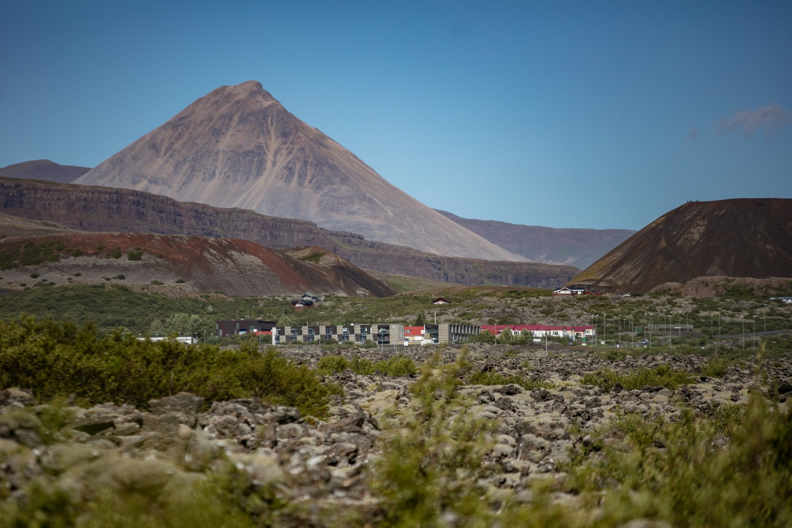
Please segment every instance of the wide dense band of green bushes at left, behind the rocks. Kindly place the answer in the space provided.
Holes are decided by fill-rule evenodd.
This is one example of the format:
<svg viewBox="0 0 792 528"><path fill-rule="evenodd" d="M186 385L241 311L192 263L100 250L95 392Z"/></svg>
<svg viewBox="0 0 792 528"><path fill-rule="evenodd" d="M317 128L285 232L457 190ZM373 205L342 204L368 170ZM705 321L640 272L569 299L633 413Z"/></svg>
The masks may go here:
<svg viewBox="0 0 792 528"><path fill-rule="evenodd" d="M247 342L239 350L175 341L137 340L131 333L100 336L93 325L38 321L0 322L0 386L31 389L40 400L74 394L89 404L105 401L145 407L181 390L207 401L261 397L322 416L327 398L340 393L305 365L275 348L263 353Z"/></svg>

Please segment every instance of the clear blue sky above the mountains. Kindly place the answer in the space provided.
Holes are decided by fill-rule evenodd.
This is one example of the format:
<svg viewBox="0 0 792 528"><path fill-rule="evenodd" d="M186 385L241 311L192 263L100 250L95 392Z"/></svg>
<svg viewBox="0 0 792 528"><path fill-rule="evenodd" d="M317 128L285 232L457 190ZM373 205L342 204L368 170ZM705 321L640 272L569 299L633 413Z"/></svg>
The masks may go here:
<svg viewBox="0 0 792 528"><path fill-rule="evenodd" d="M792 198L792 2L0 0L0 166L97 165L261 81L466 218L640 229Z"/></svg>

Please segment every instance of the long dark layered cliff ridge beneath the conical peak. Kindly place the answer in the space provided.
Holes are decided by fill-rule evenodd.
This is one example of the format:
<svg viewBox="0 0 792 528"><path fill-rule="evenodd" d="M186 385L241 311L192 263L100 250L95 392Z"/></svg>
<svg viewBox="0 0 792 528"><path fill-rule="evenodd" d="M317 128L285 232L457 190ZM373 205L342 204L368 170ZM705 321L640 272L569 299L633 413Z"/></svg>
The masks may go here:
<svg viewBox="0 0 792 528"><path fill-rule="evenodd" d="M0 207L9 215L74 230L234 237L271 248L318 245L360 268L443 282L560 287L580 273L569 266L437 256L324 230L306 220L177 202L129 189L0 178Z"/></svg>

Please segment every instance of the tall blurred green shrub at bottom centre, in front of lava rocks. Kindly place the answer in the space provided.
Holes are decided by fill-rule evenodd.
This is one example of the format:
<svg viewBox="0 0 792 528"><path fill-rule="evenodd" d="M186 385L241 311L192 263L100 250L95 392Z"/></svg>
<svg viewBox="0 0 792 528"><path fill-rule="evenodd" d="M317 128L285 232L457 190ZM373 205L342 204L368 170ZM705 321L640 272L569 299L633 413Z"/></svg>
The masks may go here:
<svg viewBox="0 0 792 528"><path fill-rule="evenodd" d="M413 383L413 407L387 427L371 482L380 526L447 526L444 515L455 526L493 526L478 482L496 423L477 418L458 387L458 365L436 355Z"/></svg>

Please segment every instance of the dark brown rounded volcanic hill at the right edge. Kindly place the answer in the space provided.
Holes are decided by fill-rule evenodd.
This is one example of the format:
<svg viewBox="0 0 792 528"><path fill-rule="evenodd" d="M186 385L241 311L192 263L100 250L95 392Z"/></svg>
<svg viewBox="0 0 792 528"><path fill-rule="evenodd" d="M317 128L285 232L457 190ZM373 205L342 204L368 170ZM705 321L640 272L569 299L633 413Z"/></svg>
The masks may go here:
<svg viewBox="0 0 792 528"><path fill-rule="evenodd" d="M792 277L792 199L685 203L597 260L569 286L642 292L710 275Z"/></svg>

